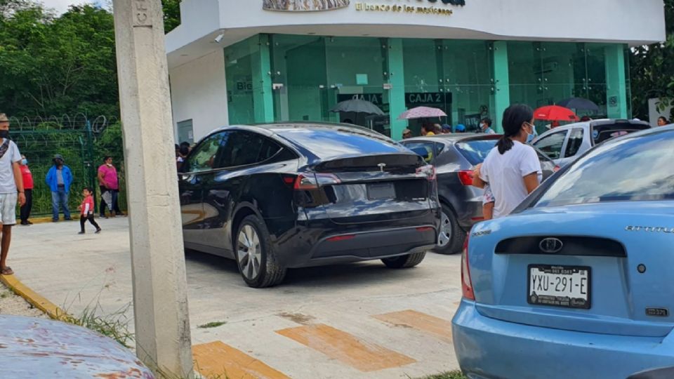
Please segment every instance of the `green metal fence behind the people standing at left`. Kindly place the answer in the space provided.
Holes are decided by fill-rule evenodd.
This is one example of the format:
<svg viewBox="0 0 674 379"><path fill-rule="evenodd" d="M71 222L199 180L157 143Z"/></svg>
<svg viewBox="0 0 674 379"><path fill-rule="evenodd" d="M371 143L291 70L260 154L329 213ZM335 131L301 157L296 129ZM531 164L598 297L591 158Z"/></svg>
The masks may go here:
<svg viewBox="0 0 674 379"><path fill-rule="evenodd" d="M84 114L62 117L10 118L10 138L28 160L33 175L33 215L51 215L51 191L46 185L47 171L55 154L61 154L73 174L70 210L81 202L81 189L98 189L98 166L103 157L113 158L120 179L119 206L126 208L124 149L117 119L104 116L89 119ZM95 198L100 199L96 190ZM97 201L98 211L98 201ZM74 212L74 214L77 214Z"/></svg>

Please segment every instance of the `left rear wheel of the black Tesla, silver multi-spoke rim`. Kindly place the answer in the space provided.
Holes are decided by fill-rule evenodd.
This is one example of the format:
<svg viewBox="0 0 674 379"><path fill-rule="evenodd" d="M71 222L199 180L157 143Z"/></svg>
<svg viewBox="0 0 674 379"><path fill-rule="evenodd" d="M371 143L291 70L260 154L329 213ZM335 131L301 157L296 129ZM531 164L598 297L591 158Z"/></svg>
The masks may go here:
<svg viewBox="0 0 674 379"><path fill-rule="evenodd" d="M234 251L242 278L253 288L275 286L286 276L285 267L276 260L267 227L255 215L239 224Z"/></svg>

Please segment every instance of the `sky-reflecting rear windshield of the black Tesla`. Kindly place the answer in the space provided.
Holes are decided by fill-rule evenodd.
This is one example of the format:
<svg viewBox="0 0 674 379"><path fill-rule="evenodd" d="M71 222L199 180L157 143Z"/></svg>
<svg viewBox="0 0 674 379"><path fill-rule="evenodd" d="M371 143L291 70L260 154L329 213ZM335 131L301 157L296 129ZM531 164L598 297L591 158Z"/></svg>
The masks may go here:
<svg viewBox="0 0 674 379"><path fill-rule="evenodd" d="M288 128L275 133L322 160L362 154L409 154L383 135L348 128Z"/></svg>

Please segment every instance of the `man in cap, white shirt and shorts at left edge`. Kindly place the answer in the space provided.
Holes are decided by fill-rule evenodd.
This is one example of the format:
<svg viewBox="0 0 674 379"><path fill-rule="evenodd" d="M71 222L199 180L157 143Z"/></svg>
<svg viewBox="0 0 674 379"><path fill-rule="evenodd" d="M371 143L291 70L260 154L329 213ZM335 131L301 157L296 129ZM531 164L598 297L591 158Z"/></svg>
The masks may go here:
<svg viewBox="0 0 674 379"><path fill-rule="evenodd" d="M9 140L9 119L0 113L0 221L2 237L0 241L0 274L14 274L7 265L9 245L12 240L12 227L16 225L16 203L26 203L23 178L19 162L21 154L16 144Z"/></svg>

